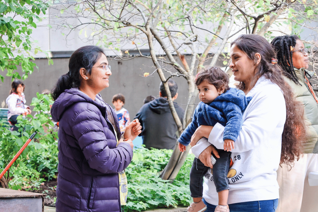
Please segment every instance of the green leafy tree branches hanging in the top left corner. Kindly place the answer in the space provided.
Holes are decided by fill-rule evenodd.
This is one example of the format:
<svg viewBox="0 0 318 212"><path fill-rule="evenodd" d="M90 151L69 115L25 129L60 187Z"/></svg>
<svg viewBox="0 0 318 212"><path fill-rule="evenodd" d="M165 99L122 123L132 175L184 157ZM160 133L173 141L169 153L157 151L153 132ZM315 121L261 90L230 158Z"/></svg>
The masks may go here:
<svg viewBox="0 0 318 212"><path fill-rule="evenodd" d="M1 0L0 2L0 68L7 70L6 76L21 79L17 66L21 65L22 79L33 72L36 64L32 62L32 28L36 28L35 20L41 20L40 13L45 14L47 4L42 0ZM41 51L34 49L36 54ZM50 64L50 62L49 62ZM0 79L4 77L0 74Z"/></svg>

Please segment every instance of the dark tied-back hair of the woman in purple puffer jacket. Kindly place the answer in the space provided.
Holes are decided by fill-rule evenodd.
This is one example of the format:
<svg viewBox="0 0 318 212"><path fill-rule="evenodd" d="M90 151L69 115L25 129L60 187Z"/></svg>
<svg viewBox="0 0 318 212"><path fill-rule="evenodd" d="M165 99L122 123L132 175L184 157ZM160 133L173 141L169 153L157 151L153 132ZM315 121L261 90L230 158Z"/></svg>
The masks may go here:
<svg viewBox="0 0 318 212"><path fill-rule="evenodd" d="M79 70L85 68L87 74L91 74L93 65L105 54L98 46L83 46L73 52L68 63L69 72L59 77L51 96L55 101L66 89L80 86L81 76Z"/></svg>

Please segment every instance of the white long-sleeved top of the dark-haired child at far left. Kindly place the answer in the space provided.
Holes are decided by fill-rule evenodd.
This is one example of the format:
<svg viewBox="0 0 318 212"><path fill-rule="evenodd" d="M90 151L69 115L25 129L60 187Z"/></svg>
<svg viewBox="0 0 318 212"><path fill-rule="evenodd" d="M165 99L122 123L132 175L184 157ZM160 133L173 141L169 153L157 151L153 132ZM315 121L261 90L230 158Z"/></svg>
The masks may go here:
<svg viewBox="0 0 318 212"><path fill-rule="evenodd" d="M27 108L30 109L29 106L24 105L26 103L24 93L21 93L21 96L19 96L16 93L11 93L8 96L8 98L5 100L5 102L9 108L8 120L10 119L11 116L27 113L28 112Z"/></svg>

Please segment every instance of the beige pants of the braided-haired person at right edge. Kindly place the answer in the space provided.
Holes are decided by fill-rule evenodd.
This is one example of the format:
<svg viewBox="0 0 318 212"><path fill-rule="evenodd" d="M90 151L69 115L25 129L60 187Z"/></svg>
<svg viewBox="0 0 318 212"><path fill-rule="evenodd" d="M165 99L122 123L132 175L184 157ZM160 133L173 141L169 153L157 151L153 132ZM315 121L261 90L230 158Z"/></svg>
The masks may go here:
<svg viewBox="0 0 318 212"><path fill-rule="evenodd" d="M318 172L318 154L304 154L294 167L277 170L279 201L276 212L318 212L318 186L309 186L308 173Z"/></svg>

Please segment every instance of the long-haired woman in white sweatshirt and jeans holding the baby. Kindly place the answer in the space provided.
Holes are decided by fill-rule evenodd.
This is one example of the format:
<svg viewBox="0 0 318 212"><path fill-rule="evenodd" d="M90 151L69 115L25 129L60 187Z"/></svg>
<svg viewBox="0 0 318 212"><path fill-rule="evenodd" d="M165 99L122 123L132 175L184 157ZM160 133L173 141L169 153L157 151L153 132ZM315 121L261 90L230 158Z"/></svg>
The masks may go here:
<svg viewBox="0 0 318 212"><path fill-rule="evenodd" d="M227 175L229 209L275 211L279 198L276 170L301 155L305 137L303 107L285 84L275 52L265 38L239 36L231 44L231 58L234 79L240 82L238 88L252 100L243 114L243 126L231 154L232 166ZM214 147L224 148L223 132L221 124L200 126L192 136L192 144L199 140L192 152L205 166L213 167L211 152L218 157ZM203 197L207 211L214 211L218 194L211 169L205 175Z"/></svg>

